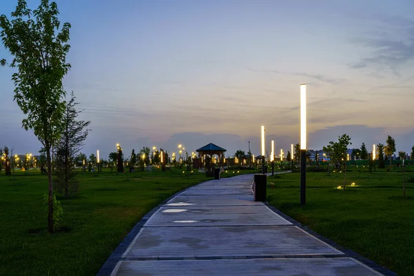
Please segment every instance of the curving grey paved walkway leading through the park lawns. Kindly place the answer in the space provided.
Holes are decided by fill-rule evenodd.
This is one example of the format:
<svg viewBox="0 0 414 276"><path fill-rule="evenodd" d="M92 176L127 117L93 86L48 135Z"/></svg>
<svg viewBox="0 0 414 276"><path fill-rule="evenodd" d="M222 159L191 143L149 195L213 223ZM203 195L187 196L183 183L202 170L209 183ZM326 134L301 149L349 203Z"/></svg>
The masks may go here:
<svg viewBox="0 0 414 276"><path fill-rule="evenodd" d="M382 275L253 201L252 181L206 181L172 198L111 275Z"/></svg>

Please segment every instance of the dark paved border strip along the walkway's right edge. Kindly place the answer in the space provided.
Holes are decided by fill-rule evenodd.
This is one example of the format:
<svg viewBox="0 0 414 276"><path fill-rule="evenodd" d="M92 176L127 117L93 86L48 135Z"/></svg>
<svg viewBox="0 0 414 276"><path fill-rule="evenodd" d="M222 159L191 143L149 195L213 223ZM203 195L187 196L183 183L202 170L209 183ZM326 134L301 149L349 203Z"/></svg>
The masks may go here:
<svg viewBox="0 0 414 276"><path fill-rule="evenodd" d="M322 242L325 242L326 244L332 246L333 248L335 248L339 251L342 251L346 256L351 257L353 259L356 259L359 262L362 262L362 264L365 264L366 266L372 268L373 270L375 270L379 273L382 273L384 276L397 276L397 273L394 273L393 271L389 270L388 268L384 268L383 266L380 266L379 264L371 261L371 259L367 259L366 257L362 257L358 253L355 253L353 250L345 248L344 246L340 246L339 244L333 242L331 239L328 239L328 238L326 238L322 235L319 235L318 233L313 231L308 226L304 226L299 221L297 221L297 220L289 217L288 215L282 213L279 209L277 209L275 206L270 204L268 201L264 202L264 204L266 206L268 206L268 208L270 208L270 210L272 210L274 213L276 213L277 215L283 217L284 219L286 219L287 221L292 223L294 226L297 226L297 227L301 228L306 233L309 233L309 234L313 235L317 239L320 239Z"/></svg>

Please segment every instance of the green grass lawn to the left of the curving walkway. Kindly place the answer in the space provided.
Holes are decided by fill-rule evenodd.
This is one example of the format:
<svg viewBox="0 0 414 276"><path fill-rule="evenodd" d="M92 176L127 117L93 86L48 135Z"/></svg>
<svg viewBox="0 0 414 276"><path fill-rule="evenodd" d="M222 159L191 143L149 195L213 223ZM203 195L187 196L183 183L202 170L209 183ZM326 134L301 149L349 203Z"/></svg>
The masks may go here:
<svg viewBox="0 0 414 276"><path fill-rule="evenodd" d="M230 177L253 171L222 173ZM95 275L135 224L161 201L208 179L199 172L80 172L77 197L57 197L64 232L47 233L46 175L0 175L0 275Z"/></svg>

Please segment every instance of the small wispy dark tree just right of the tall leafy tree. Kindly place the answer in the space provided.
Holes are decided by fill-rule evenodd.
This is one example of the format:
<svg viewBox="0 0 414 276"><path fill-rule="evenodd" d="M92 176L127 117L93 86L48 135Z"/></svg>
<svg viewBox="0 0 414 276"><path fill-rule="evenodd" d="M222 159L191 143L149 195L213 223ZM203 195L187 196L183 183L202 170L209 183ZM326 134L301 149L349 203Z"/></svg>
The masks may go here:
<svg viewBox="0 0 414 276"><path fill-rule="evenodd" d="M75 172L75 159L78 152L83 148L85 139L88 137L88 126L90 121L77 121L79 113L73 92L70 94L70 101L66 103L63 115L63 132L57 144L55 159L55 182L54 187L58 193L65 197L77 193L79 190L79 179ZM83 162L83 160L82 160ZM82 163L83 164L83 163Z"/></svg>

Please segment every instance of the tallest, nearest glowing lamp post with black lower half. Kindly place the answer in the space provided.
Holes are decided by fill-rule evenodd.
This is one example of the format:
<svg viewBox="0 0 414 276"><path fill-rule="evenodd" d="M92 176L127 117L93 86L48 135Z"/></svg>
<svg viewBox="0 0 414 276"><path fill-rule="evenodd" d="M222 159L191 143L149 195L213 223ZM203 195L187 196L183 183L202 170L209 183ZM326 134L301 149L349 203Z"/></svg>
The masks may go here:
<svg viewBox="0 0 414 276"><path fill-rule="evenodd" d="M306 204L306 84L300 85L300 205Z"/></svg>

